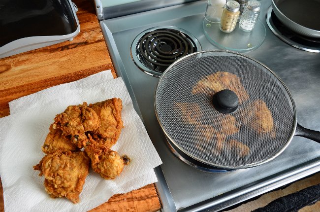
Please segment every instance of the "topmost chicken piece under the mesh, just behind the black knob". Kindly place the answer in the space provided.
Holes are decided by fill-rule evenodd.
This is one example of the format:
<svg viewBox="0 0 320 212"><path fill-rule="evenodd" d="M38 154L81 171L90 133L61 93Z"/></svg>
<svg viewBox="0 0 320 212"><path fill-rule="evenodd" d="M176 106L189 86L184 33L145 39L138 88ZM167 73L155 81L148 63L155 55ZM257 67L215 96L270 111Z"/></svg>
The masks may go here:
<svg viewBox="0 0 320 212"><path fill-rule="evenodd" d="M214 95L224 89L236 93L240 104L249 99L249 95L237 75L225 71L218 71L199 80L192 88L192 94Z"/></svg>

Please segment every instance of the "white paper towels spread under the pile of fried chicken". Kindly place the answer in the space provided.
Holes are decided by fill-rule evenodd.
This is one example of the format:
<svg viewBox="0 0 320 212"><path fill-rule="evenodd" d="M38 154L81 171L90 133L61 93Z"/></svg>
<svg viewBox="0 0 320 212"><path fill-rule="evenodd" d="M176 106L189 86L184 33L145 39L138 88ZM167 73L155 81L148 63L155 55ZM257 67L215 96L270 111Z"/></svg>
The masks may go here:
<svg viewBox="0 0 320 212"><path fill-rule="evenodd" d="M93 82L97 77L97 82L101 76L106 77L105 74L109 73L96 74L89 79ZM106 202L114 194L127 193L157 181L153 169L161 164L160 157L132 106L121 77L103 82L100 80L94 86L78 86L86 84L86 79L81 81L73 85L61 85L61 89L56 86L54 92L43 91L40 95L16 100L16 113L0 119L0 176L5 211L88 211ZM55 96L55 92L59 96ZM127 154L131 159L130 164L113 180L105 180L91 170L77 204L64 198L49 197L43 186L44 177L38 177L39 172L33 171L32 167L44 156L41 146L53 118L68 105L96 103L113 97L123 101L122 118L125 127L112 149L120 155ZM25 100L28 103L26 105Z"/></svg>

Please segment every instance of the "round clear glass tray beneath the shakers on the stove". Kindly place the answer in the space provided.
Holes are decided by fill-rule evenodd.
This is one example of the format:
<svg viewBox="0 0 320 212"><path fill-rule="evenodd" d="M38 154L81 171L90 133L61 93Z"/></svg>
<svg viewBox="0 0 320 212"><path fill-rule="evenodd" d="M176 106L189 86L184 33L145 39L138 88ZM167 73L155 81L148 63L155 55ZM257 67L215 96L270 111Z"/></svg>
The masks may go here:
<svg viewBox="0 0 320 212"><path fill-rule="evenodd" d="M253 31L244 32L240 30L238 22L231 33L222 32L219 29L219 23L215 24L204 19L203 32L215 46L237 52L245 52L257 48L262 44L266 35L265 27L259 19Z"/></svg>

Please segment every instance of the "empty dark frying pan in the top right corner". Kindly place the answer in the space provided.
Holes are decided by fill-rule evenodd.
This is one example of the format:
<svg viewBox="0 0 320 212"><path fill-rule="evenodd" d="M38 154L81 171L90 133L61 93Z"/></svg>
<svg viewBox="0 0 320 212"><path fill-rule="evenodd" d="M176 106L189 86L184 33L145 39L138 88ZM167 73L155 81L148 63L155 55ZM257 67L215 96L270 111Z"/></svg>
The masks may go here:
<svg viewBox="0 0 320 212"><path fill-rule="evenodd" d="M272 8L293 32L320 38L320 0L272 0Z"/></svg>

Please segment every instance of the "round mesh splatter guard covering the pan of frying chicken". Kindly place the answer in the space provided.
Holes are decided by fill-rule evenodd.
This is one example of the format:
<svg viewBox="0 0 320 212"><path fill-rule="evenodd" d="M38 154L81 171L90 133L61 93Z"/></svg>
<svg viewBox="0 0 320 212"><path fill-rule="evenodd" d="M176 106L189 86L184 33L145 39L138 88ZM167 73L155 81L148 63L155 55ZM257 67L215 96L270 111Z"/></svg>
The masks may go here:
<svg viewBox="0 0 320 212"><path fill-rule="evenodd" d="M217 97L223 90L237 99L221 99L229 91ZM217 98L219 106L238 108L218 111ZM155 107L175 147L224 169L275 158L296 127L295 105L282 80L256 60L229 51L196 52L173 63L159 80Z"/></svg>

